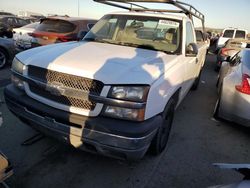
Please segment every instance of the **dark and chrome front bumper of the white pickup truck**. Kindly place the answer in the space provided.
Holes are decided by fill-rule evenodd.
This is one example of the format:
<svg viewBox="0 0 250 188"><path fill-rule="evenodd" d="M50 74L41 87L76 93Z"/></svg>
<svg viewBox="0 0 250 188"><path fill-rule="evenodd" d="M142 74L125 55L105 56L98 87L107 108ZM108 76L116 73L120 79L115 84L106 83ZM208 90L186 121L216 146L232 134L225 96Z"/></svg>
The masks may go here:
<svg viewBox="0 0 250 188"><path fill-rule="evenodd" d="M73 146L107 156L137 160L144 156L161 124L161 116L144 122L85 117L52 108L18 90L4 90L8 108L33 128Z"/></svg>

